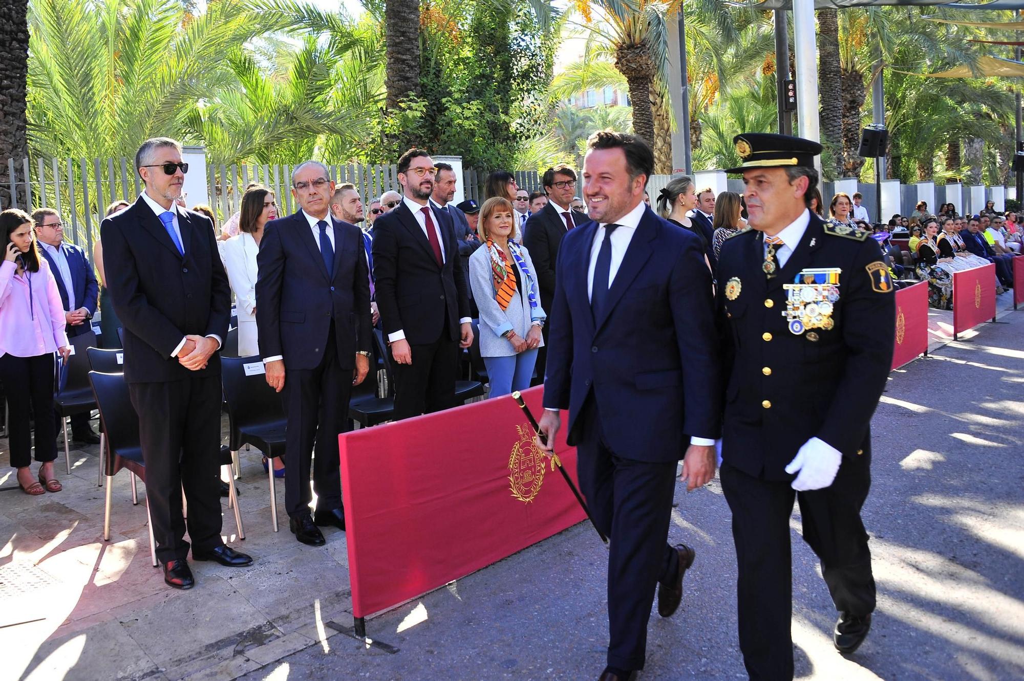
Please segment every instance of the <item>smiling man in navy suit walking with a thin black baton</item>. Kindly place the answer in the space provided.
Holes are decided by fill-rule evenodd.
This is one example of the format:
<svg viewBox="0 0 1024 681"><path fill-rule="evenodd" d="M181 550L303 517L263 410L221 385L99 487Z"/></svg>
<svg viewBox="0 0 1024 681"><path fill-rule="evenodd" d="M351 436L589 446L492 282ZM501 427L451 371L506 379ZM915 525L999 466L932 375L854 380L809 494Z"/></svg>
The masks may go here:
<svg viewBox="0 0 1024 681"><path fill-rule="evenodd" d="M565 234L558 253L540 428L553 445L568 409L580 486L611 540L600 678L625 681L644 666L655 584L658 614L669 617L693 562L693 549L666 542L680 455L688 489L715 475L718 336L699 238L644 203L650 148L605 131L588 149L591 221Z"/></svg>

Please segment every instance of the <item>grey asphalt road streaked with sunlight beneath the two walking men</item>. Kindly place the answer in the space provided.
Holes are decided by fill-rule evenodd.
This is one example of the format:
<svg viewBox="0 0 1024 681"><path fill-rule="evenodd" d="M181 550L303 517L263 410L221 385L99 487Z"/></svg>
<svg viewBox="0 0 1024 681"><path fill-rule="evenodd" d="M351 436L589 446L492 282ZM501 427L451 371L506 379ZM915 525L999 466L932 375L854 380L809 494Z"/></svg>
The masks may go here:
<svg viewBox="0 0 1024 681"><path fill-rule="evenodd" d="M795 512L798 678L1024 678L1024 312L1001 319L891 376L863 514L879 609L849 659L831 646L835 608ZM680 611L651 619L641 678L745 678L728 506L717 480L676 498L670 541L697 557ZM605 568L593 531L575 526L370 620L397 651L337 634L242 678L596 679Z"/></svg>

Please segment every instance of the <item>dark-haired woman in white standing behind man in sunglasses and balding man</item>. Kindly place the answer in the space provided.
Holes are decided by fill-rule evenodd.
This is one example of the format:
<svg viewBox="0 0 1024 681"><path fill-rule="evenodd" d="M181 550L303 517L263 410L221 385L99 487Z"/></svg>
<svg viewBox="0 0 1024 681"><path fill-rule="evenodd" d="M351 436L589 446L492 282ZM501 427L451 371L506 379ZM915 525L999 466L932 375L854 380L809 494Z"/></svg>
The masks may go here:
<svg viewBox="0 0 1024 681"><path fill-rule="evenodd" d="M239 311L239 355L259 355L256 333L256 254L263 226L278 217L273 192L264 186L250 187L242 196L239 233L224 241L224 268L231 282Z"/></svg>

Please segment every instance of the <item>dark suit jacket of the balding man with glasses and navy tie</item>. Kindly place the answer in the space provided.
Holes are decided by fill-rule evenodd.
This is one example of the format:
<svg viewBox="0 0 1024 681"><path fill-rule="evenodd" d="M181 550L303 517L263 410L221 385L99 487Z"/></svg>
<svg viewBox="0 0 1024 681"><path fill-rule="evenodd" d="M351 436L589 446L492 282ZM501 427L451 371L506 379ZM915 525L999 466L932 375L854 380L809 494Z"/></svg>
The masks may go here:
<svg viewBox="0 0 1024 681"><path fill-rule="evenodd" d="M370 352L370 269L362 230L331 218L334 276L302 212L271 220L260 239L256 279L256 326L262 357L281 355L286 369L319 366L334 319L338 364L355 366L357 351Z"/></svg>

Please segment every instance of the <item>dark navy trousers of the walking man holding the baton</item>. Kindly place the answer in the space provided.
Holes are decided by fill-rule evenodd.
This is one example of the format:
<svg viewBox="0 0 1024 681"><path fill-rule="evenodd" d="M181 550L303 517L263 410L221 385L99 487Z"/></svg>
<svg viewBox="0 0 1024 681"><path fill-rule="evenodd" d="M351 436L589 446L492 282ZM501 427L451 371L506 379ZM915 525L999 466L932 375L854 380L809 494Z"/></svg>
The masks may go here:
<svg viewBox="0 0 1024 681"><path fill-rule="evenodd" d="M647 621L657 582L670 582L678 553L667 544L676 486L676 462L649 463L612 452L590 399L577 445L580 488L608 553L608 666L643 669Z"/></svg>

